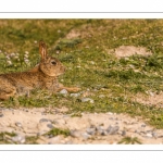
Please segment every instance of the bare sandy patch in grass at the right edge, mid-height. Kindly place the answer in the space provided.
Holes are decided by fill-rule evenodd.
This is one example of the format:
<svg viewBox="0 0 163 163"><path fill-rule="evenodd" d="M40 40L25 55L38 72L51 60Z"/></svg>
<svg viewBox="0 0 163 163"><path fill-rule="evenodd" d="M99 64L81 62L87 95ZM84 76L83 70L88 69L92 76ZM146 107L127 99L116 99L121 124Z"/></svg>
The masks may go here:
<svg viewBox="0 0 163 163"><path fill-rule="evenodd" d="M135 97L135 101L147 105L163 108L163 92L161 92L160 95L150 92L149 96L139 93Z"/></svg>

